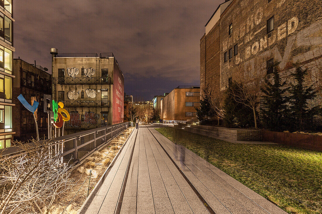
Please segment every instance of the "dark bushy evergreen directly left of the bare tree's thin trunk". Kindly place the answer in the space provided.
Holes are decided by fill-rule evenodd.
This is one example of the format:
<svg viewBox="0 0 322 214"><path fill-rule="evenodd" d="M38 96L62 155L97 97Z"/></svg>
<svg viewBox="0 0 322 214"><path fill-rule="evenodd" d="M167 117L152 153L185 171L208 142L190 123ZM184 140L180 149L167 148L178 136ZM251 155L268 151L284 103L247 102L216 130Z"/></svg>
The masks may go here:
<svg viewBox="0 0 322 214"><path fill-rule="evenodd" d="M226 97L224 100L224 126L228 128L232 127L252 127L254 126L253 111L241 102L237 102L237 97L234 96L240 93L239 83L232 83L226 91Z"/></svg>

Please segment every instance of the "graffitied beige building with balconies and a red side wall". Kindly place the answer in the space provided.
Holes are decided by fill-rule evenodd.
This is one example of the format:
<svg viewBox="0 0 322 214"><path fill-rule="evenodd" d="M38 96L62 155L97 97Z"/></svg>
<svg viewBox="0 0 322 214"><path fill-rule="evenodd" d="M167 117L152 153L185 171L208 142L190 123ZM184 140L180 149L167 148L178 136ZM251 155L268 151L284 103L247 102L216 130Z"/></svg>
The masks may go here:
<svg viewBox="0 0 322 214"><path fill-rule="evenodd" d="M68 133L123 122L124 76L113 53L51 53L52 97L71 115Z"/></svg>

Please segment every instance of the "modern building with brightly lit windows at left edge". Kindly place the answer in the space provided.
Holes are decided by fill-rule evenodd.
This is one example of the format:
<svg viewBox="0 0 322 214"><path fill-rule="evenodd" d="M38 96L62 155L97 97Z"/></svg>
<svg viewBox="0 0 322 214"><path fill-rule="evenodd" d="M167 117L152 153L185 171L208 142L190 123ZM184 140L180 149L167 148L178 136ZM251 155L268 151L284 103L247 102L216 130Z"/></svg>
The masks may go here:
<svg viewBox="0 0 322 214"><path fill-rule="evenodd" d="M12 135L12 61L13 0L0 0L0 149L11 145Z"/></svg>

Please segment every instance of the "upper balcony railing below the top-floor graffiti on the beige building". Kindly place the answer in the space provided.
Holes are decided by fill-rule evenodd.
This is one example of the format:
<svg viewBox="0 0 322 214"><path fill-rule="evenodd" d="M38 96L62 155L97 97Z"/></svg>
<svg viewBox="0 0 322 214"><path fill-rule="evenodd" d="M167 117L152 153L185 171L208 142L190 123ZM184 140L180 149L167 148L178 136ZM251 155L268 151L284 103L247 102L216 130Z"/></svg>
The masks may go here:
<svg viewBox="0 0 322 214"><path fill-rule="evenodd" d="M60 85L110 85L111 77L55 77L53 82Z"/></svg>

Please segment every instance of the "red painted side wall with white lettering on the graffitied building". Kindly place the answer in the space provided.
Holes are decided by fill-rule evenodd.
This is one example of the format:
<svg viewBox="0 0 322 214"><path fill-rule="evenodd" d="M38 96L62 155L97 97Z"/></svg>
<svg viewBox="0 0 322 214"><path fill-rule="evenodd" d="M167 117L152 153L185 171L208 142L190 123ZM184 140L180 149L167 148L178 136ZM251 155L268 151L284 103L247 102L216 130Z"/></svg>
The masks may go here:
<svg viewBox="0 0 322 214"><path fill-rule="evenodd" d="M113 74L113 124L124 120L124 76L114 59Z"/></svg>

